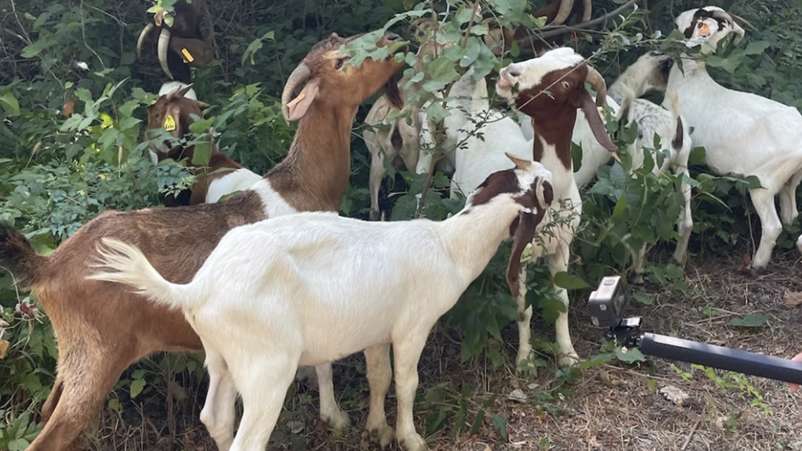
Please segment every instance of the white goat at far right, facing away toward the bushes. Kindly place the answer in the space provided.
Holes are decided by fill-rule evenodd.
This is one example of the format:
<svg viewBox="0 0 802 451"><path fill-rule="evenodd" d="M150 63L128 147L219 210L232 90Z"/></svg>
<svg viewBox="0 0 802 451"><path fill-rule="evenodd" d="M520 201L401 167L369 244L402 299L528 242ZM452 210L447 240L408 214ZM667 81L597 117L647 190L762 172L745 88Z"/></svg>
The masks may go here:
<svg viewBox="0 0 802 451"><path fill-rule="evenodd" d="M735 33L736 44L743 38L736 20L743 21L717 6L705 6L684 11L675 23L689 39L688 46L701 44L703 53L710 54L725 35ZM761 225L751 268L764 269L782 231L774 197L780 194L785 224L799 216L796 186L802 180L802 115L763 96L721 86L707 74L704 61L690 55L683 55L682 71L676 64L671 69L668 89L677 92L683 117L694 129L694 144L705 148L711 172L759 178L762 188L749 190Z"/></svg>

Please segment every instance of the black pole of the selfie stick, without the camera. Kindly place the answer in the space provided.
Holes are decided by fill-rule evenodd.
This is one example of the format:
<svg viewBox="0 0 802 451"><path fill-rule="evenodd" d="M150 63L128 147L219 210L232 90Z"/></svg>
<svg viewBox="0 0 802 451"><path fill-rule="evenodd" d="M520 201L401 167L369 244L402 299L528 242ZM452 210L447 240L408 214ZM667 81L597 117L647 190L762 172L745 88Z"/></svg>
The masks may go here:
<svg viewBox="0 0 802 451"><path fill-rule="evenodd" d="M638 348L650 356L802 384L802 362L646 332Z"/></svg>

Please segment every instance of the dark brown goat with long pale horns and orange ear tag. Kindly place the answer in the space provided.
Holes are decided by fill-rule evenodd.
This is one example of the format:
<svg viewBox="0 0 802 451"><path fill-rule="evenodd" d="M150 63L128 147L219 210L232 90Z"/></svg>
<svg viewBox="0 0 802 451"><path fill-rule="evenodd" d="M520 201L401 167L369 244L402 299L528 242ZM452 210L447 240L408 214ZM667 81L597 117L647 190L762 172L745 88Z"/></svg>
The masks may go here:
<svg viewBox="0 0 802 451"><path fill-rule="evenodd" d="M189 83L187 65L203 67L212 60L214 51L201 35L201 18L205 14L203 0L186 2L179 0L173 6L172 26L164 18L164 10L153 15L136 40L136 55L142 58L142 44L152 30L160 29L156 52L162 71L170 79L179 79ZM168 49L170 52L168 52Z"/></svg>

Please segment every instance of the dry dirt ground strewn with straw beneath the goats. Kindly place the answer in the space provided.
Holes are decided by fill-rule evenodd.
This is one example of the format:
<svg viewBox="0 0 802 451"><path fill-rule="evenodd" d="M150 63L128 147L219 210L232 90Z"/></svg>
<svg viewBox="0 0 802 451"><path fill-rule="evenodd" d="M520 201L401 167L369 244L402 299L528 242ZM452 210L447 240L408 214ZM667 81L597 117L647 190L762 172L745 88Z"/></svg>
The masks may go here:
<svg viewBox="0 0 802 451"><path fill-rule="evenodd" d="M691 258L686 289L666 290L647 282L644 289L652 303L630 306L628 313L642 315L644 331L794 356L802 351L802 262L795 252L777 254L768 270L755 277L739 273L742 261L739 252L716 260ZM572 301L571 331L577 351L583 358L597 355L600 330L590 326L579 300ZM731 324L743 315L766 315L768 320L759 327ZM516 376L509 366L515 358L515 327L504 333L511 344L491 345L505 356L506 364L497 368L492 368L489 357L460 363L458 331L439 327L431 335L419 365L415 402L418 430L431 449L802 451L802 392L792 394L785 384L749 376L739 379L743 382L739 386L726 372L717 371L715 375L728 384L717 386L703 371L691 371L689 364L672 366L664 360L635 365L614 360L573 372L572 378L544 357L546 366L539 368L537 377ZM546 327L539 333L548 339L553 339L552 334ZM368 396L362 356L335 364L334 371L335 392L341 396L351 427L342 433L327 429L316 418L317 392L296 384L268 449L379 449L362 429ZM688 378L681 376L688 372ZM661 392L666 387L687 398L669 400ZM758 395L748 392L750 387ZM192 392L191 386L186 388ZM151 396L138 403L125 402L122 415L103 412L92 448L217 449L197 419L204 390L205 383L183 404L171 406L164 396ZM510 396L513 391L517 396ZM758 396L764 407L753 405L759 404ZM460 408L465 415L458 423ZM392 425L392 389L387 409ZM480 411L484 421L476 421ZM444 427L426 434L427 425L437 424L439 415ZM500 433L503 429L506 438Z"/></svg>

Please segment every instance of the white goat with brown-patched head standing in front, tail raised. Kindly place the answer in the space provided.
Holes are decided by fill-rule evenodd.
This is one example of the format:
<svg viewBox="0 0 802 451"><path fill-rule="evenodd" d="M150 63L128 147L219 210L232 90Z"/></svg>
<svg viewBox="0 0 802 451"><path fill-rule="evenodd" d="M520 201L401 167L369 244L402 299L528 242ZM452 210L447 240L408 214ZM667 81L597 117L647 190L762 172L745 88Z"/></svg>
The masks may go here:
<svg viewBox="0 0 802 451"><path fill-rule="evenodd" d="M407 451L421 451L427 446L415 432L412 404L431 327L511 230L508 282L516 293L520 254L552 201L549 171L510 159L517 169L493 173L445 221L298 213L243 225L221 239L186 285L165 280L136 247L107 239L111 250L100 254L114 272L89 277L134 286L157 304L181 309L207 359L225 360L244 405L231 451L264 451L299 364L325 364L362 350L371 385L367 429L387 445L393 435L383 405L390 344L395 435ZM221 376L213 371L209 366L210 377Z"/></svg>

